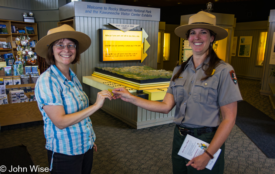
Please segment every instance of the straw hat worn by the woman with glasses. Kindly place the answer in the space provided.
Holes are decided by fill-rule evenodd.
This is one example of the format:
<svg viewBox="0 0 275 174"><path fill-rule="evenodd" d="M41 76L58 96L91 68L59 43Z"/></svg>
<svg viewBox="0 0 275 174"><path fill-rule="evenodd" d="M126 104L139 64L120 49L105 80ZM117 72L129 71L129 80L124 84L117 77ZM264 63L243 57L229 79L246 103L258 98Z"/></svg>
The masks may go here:
<svg viewBox="0 0 275 174"><path fill-rule="evenodd" d="M91 39L88 35L75 31L74 28L68 25L62 25L57 28L53 28L48 31L47 35L40 39L35 45L35 52L43 57L47 57L48 47L56 40L71 38L75 39L79 43L79 53L86 51L91 45Z"/></svg>

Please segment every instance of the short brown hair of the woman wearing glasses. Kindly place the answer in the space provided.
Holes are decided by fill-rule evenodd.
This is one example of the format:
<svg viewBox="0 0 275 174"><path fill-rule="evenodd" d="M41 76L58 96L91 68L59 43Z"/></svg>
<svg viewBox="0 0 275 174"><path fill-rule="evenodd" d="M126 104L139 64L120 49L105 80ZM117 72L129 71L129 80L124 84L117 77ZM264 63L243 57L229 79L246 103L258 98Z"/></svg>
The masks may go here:
<svg viewBox="0 0 275 174"><path fill-rule="evenodd" d="M65 39L65 38L64 38ZM45 61L47 64L49 65L55 65L55 60L54 60L54 51L52 49L52 47L54 46L54 44L56 44L58 41L60 40L64 40L64 39L59 39L59 40L56 40L54 41L53 43L51 43L49 45L49 49L48 49L48 53L47 53L47 57L45 58ZM71 42L74 42L75 45L76 45L76 58L74 59L73 62L71 62L71 64L75 64L75 63L79 63L80 62L80 54L79 54L79 43L77 40L75 39L71 39L71 38L67 38L68 40L70 40ZM62 42L61 41L61 42Z"/></svg>

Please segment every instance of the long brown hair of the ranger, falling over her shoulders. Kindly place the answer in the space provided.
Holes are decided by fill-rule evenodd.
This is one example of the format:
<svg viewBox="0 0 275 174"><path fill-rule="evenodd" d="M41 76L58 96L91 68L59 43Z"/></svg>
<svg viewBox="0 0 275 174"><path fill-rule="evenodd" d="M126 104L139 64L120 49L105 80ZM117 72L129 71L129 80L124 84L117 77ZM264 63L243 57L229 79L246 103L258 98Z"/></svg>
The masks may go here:
<svg viewBox="0 0 275 174"><path fill-rule="evenodd" d="M215 39L216 39L216 35L213 31L209 30L210 32L210 36L214 36L214 40L212 43L212 46L215 42ZM190 30L188 30L188 32L186 33L187 35L187 38L189 39L189 34L190 34ZM206 80L208 77L210 77L212 75L212 72L213 72L213 69L215 67L217 67L219 61L221 60L217 54L215 53L215 51L213 50L213 47L212 46L209 46L208 48L208 55L204 58L204 60L208 57L210 57L210 60L209 60L209 66L207 69L203 69L204 73L205 73L205 77L201 78L201 80ZM184 68L185 66L187 65L187 63L189 62L189 60L191 59L192 56L190 56L190 58L188 58L185 62L183 62L181 64L181 67L179 69L179 71L173 76L172 78L172 81L175 81L176 78L179 78L180 74L184 71ZM203 67L202 67L203 68Z"/></svg>

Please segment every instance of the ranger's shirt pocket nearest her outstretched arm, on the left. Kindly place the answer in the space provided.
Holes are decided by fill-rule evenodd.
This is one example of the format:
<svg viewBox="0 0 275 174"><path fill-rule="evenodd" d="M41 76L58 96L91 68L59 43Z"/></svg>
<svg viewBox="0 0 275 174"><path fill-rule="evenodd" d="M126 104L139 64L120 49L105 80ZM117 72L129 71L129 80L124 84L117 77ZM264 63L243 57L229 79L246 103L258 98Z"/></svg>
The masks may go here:
<svg viewBox="0 0 275 174"><path fill-rule="evenodd" d="M184 98L183 85L184 85L185 81L186 81L186 79L177 78L177 79L175 79L174 82L173 81L171 82L170 87L172 88L175 102L182 101L182 99Z"/></svg>

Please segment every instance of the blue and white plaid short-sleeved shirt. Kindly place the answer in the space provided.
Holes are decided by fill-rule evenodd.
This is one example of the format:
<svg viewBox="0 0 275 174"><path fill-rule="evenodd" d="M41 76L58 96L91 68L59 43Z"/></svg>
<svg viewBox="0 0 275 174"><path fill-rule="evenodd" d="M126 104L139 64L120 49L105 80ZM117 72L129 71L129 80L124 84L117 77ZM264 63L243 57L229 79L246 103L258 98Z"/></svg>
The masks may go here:
<svg viewBox="0 0 275 174"><path fill-rule="evenodd" d="M35 98L43 115L46 149L66 155L79 155L93 147L96 139L91 119L86 119L63 130L57 128L49 119L44 105L62 105L66 114L81 111L89 106L88 97L76 77L69 69L69 81L52 65L42 73L35 85Z"/></svg>

